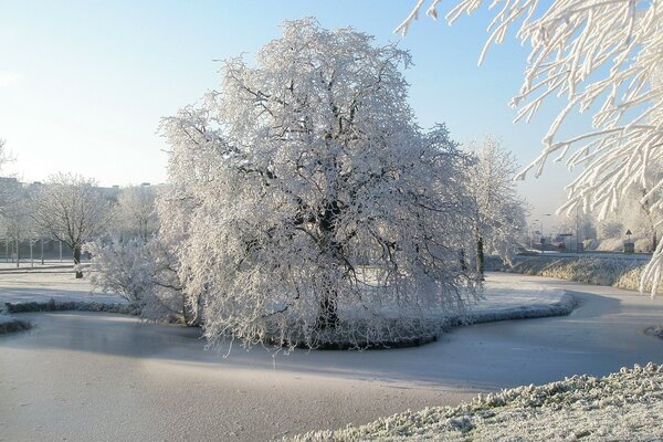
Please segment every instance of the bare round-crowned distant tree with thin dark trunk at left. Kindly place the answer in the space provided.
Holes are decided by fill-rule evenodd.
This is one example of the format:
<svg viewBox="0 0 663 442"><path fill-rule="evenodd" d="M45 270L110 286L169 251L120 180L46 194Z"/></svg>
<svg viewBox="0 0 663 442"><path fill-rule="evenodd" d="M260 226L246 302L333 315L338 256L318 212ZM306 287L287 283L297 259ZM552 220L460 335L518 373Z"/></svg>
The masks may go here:
<svg viewBox="0 0 663 442"><path fill-rule="evenodd" d="M110 204L95 188L95 181L56 173L32 197L31 215L39 227L73 251L76 278L84 242L104 233L110 220Z"/></svg>

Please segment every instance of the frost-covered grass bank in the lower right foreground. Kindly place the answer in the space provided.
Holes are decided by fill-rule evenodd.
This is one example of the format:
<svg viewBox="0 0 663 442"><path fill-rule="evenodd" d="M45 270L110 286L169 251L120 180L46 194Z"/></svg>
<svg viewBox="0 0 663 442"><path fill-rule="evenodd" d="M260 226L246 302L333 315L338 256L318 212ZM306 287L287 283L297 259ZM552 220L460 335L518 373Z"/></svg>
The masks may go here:
<svg viewBox="0 0 663 442"><path fill-rule="evenodd" d="M459 407L407 411L292 441L661 440L663 366L622 368L480 394Z"/></svg>

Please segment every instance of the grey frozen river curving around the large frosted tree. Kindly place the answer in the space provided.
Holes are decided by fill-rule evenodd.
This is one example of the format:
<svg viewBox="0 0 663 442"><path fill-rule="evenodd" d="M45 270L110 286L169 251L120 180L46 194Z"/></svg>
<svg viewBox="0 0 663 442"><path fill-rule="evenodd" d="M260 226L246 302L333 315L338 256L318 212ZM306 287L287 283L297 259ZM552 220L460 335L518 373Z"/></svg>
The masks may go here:
<svg viewBox="0 0 663 442"><path fill-rule="evenodd" d="M663 362L663 299L524 275L573 292L566 317L455 329L418 348L204 350L197 330L109 314L23 315L0 336L0 441L264 441L366 423L478 391Z"/></svg>

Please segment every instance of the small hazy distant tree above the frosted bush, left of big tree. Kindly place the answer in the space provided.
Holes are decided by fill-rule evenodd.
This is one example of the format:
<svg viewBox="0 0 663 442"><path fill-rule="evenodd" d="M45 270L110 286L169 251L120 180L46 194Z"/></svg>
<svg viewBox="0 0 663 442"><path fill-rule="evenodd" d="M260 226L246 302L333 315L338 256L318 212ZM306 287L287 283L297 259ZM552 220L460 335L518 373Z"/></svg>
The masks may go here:
<svg viewBox="0 0 663 442"><path fill-rule="evenodd" d="M155 199L155 189L149 186L122 189L116 206L120 229L147 242L157 230Z"/></svg>

